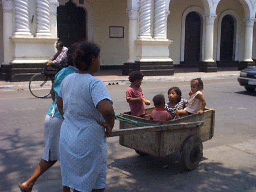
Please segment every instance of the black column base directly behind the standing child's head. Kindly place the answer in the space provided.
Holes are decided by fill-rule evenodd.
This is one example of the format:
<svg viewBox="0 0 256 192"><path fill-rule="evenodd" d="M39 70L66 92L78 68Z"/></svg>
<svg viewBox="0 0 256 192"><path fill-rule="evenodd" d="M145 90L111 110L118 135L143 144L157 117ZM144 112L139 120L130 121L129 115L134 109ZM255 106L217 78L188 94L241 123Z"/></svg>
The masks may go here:
<svg viewBox="0 0 256 192"><path fill-rule="evenodd" d="M133 70L141 71L144 76L173 75L174 67L172 62L138 62L124 63L122 74L129 75Z"/></svg>

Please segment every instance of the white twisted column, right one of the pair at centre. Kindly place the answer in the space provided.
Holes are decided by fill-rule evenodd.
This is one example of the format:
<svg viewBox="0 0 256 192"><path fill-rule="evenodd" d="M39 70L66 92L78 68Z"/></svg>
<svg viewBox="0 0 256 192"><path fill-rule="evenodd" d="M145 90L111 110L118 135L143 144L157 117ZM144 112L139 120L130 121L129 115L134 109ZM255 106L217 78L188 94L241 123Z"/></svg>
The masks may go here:
<svg viewBox="0 0 256 192"><path fill-rule="evenodd" d="M154 38L165 37L165 0L154 0Z"/></svg>

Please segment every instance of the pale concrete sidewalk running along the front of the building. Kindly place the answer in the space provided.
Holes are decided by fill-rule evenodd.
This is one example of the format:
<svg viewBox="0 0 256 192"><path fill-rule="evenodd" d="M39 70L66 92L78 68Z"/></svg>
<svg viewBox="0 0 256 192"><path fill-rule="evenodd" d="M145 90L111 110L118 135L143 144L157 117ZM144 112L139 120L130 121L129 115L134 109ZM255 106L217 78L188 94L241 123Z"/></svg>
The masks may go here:
<svg viewBox="0 0 256 192"><path fill-rule="evenodd" d="M174 68L173 76L144 76L143 82L189 81L192 78L223 79L238 77L240 71L237 67L220 67L217 72L197 72L198 68ZM106 85L129 84L128 76L122 75L122 70L100 70L94 74ZM27 90L28 82L0 81L0 91Z"/></svg>

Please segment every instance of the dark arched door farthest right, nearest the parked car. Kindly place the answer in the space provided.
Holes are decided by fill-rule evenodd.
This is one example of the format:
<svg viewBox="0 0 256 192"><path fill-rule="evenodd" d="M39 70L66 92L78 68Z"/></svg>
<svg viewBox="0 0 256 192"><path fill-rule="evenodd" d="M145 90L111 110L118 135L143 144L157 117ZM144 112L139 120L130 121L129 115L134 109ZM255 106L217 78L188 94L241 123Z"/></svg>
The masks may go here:
<svg viewBox="0 0 256 192"><path fill-rule="evenodd" d="M222 18L220 36L220 62L233 61L234 19L230 15Z"/></svg>

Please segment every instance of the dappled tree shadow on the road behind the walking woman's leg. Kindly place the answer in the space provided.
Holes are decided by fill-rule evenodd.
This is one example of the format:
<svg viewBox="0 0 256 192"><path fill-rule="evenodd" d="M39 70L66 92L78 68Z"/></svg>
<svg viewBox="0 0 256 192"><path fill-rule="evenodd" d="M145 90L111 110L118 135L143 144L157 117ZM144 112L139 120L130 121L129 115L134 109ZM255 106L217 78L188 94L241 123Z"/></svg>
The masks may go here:
<svg viewBox="0 0 256 192"><path fill-rule="evenodd" d="M28 134L27 137L22 134L24 133L19 128L16 128L13 134L1 134L1 191L18 187L18 183L27 180L41 159L44 141L36 141L34 134ZM57 178L60 178L58 164L45 172L38 181L50 181Z"/></svg>

